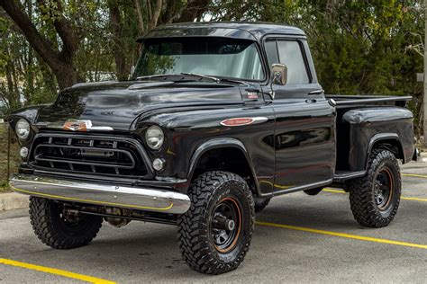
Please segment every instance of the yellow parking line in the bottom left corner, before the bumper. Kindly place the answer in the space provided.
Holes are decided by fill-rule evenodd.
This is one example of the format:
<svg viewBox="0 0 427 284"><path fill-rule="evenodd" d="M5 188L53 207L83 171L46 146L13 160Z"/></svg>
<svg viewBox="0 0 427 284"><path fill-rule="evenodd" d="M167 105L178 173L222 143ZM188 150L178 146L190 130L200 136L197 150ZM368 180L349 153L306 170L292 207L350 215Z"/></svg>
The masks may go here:
<svg viewBox="0 0 427 284"><path fill-rule="evenodd" d="M45 273L59 275L59 276L62 276L62 277L71 278L71 279L74 279L74 280L82 280L82 281L86 281L86 282L89 282L89 283L114 284L113 281L109 281L109 280L102 280L102 279L99 279L99 278L95 278L95 277L91 277L91 276L86 276L86 275L83 275L83 274L77 274L77 273L69 272L69 271L61 271L61 270L57 270L57 269L50 268L50 267L44 267L44 266L40 266L40 265L34 265L34 264L31 264L31 263L15 262L15 261L12 261L12 260L7 260L5 258L0 258L0 264L10 265L10 266L15 266L15 267L20 267L20 268L25 268L25 269L32 270L32 271L41 271L41 272L45 272Z"/></svg>

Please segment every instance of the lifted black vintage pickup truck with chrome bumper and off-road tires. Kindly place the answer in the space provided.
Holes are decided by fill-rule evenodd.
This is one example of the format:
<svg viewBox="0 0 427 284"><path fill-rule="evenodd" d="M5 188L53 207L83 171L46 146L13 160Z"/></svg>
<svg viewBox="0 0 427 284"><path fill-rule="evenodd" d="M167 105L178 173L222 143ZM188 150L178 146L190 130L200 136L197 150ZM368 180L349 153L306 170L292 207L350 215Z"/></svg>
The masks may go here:
<svg viewBox="0 0 427 284"><path fill-rule="evenodd" d="M338 187L360 225L393 220L398 160L416 157L410 97L325 95L304 31L286 25L172 24L138 41L129 80L8 117L23 159L10 185L44 244L86 245L103 220L172 224L188 265L219 274L277 195Z"/></svg>

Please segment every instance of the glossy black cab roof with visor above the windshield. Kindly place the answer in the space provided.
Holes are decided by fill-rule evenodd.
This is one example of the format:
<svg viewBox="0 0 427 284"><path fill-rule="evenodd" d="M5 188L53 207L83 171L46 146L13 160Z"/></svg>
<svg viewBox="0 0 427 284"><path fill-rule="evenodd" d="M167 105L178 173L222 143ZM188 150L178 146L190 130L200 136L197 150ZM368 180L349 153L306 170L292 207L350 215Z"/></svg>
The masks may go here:
<svg viewBox="0 0 427 284"><path fill-rule="evenodd" d="M182 22L159 26L137 41L205 36L260 41L267 34L305 36L304 31L296 27L269 22Z"/></svg>

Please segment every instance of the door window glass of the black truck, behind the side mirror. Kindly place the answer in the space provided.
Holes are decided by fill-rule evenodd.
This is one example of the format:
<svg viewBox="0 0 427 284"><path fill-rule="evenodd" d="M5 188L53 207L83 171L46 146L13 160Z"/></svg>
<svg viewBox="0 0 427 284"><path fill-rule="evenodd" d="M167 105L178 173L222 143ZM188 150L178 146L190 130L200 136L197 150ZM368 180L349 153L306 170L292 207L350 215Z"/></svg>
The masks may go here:
<svg viewBox="0 0 427 284"><path fill-rule="evenodd" d="M277 49L280 63L287 67L287 84L310 83L299 43L295 40L277 40Z"/></svg>

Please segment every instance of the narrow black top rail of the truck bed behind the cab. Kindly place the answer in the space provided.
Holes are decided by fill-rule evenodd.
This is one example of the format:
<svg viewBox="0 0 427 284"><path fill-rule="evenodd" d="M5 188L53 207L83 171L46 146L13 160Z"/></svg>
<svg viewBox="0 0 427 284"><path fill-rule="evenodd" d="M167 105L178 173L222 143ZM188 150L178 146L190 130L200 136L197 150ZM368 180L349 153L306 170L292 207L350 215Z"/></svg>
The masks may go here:
<svg viewBox="0 0 427 284"><path fill-rule="evenodd" d="M411 101L411 96L386 96L386 95L344 95L326 94L327 99L337 102L337 109L366 107L371 105L391 105L404 107Z"/></svg>

